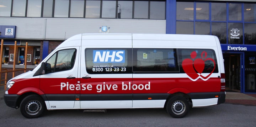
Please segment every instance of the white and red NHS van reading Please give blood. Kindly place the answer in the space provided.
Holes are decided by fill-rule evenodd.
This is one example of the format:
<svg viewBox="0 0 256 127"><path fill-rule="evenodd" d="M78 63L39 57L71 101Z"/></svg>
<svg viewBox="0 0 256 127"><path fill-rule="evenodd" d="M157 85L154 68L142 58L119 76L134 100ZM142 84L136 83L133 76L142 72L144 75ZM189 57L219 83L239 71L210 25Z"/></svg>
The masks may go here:
<svg viewBox="0 0 256 127"><path fill-rule="evenodd" d="M45 109L192 107L225 102L222 50L216 36L79 34L36 68L7 83L6 105L27 118Z"/></svg>

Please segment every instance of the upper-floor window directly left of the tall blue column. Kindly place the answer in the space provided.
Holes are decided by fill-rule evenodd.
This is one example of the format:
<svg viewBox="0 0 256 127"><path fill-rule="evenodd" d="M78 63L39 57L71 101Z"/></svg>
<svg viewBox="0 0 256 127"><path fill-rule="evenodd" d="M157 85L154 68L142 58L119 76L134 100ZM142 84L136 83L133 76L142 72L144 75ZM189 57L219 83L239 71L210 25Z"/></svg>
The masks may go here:
<svg viewBox="0 0 256 127"><path fill-rule="evenodd" d="M165 1L150 1L150 19L165 19Z"/></svg>

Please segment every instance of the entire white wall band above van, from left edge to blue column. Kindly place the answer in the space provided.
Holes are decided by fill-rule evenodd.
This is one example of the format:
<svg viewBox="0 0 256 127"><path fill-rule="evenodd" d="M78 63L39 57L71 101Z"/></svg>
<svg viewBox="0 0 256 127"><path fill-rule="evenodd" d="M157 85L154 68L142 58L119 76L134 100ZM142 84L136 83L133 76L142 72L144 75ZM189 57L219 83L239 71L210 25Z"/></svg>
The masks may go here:
<svg viewBox="0 0 256 127"><path fill-rule="evenodd" d="M16 39L65 40L80 33L99 33L102 25L109 33L165 34L165 20L14 18L0 17L0 25L16 25Z"/></svg>

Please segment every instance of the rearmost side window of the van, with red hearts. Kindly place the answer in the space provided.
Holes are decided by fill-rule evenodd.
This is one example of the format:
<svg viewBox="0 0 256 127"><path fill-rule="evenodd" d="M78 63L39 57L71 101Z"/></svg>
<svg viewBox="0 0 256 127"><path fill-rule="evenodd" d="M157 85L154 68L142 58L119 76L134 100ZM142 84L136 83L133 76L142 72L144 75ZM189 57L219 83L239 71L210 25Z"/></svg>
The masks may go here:
<svg viewBox="0 0 256 127"><path fill-rule="evenodd" d="M211 49L178 49L180 73L218 73L215 51ZM187 71L188 72L188 71Z"/></svg>

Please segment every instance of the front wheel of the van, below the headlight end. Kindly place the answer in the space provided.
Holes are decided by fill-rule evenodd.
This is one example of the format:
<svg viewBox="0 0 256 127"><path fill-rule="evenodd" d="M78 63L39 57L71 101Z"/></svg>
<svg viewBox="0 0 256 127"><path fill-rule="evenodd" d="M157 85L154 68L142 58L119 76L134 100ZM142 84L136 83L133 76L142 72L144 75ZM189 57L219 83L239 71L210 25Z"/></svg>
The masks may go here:
<svg viewBox="0 0 256 127"><path fill-rule="evenodd" d="M37 118L41 116L46 106L38 95L25 97L20 104L21 114L26 118Z"/></svg>

